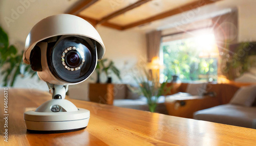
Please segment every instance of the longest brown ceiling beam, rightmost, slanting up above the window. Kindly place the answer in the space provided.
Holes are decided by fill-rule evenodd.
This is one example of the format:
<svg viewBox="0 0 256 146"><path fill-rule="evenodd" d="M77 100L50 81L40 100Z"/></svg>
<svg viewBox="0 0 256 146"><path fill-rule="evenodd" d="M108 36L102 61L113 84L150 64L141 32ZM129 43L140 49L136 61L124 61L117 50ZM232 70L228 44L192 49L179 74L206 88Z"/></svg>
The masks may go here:
<svg viewBox="0 0 256 146"><path fill-rule="evenodd" d="M221 1L221 0L217 0L217 1ZM152 22L152 21L155 21L155 20L159 20L159 19L163 19L163 18L166 18L166 17L169 17L169 16L176 15L176 14L179 14L179 13L182 13L182 12L193 10L193 9L196 9L196 8L199 8L199 7L211 4L211 3L215 3L217 1L200 0L200 1L193 2L193 3L189 3L189 4L186 4L186 5L181 6L179 8L172 9L172 10L169 10L167 12L163 12L163 13L158 14L156 16L131 23L129 25L124 26L123 29L125 30L125 29L130 29L130 28L133 28L133 27L137 27L137 26L143 25L143 24L148 23L148 22Z"/></svg>

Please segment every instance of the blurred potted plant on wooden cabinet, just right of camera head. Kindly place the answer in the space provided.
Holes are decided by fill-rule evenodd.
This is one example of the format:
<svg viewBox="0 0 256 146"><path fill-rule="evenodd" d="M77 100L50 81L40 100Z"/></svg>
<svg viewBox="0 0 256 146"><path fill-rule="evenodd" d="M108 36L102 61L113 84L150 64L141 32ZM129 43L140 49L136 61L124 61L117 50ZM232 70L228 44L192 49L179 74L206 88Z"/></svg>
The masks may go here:
<svg viewBox="0 0 256 146"><path fill-rule="evenodd" d="M108 65L105 65L105 63L108 63ZM96 72L97 72L97 81L96 83L100 83L100 74L104 72L106 77L108 78L106 83L112 83L112 78L110 77L110 72L112 71L119 80L121 80L120 77L120 71L116 68L114 62L112 60L108 61L108 59L102 59L99 60L96 66Z"/></svg>

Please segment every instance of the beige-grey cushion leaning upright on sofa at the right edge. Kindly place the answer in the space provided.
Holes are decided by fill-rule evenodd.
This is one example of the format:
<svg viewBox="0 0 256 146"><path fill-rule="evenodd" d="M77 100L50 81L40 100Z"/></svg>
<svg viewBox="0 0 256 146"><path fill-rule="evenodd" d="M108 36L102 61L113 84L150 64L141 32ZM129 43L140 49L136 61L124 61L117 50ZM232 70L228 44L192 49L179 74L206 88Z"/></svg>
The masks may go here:
<svg viewBox="0 0 256 146"><path fill-rule="evenodd" d="M230 104L250 107L256 97L256 86L241 87L233 96Z"/></svg>

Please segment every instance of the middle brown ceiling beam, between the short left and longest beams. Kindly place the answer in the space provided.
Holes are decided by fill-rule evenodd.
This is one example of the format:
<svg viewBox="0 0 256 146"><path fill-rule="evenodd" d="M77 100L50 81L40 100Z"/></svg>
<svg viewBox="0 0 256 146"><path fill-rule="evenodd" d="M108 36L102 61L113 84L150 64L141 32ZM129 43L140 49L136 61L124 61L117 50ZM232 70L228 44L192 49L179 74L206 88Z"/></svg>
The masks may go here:
<svg viewBox="0 0 256 146"><path fill-rule="evenodd" d="M114 18L114 17L116 17L118 15L121 15L121 14L127 12L127 11L130 11L130 10L132 10L134 8L137 8L137 7L143 5L143 4L147 3L147 2L150 2L150 1L152 1L152 0L140 0L140 1L134 3L134 4L130 5L130 6L127 6L127 7L123 8L123 9L121 9L121 10L118 10L116 12L113 12L113 13L109 14L109 15L106 15L103 18L101 18L101 20L99 20L98 24L101 24L101 23L103 23L105 21L108 21L111 18Z"/></svg>

